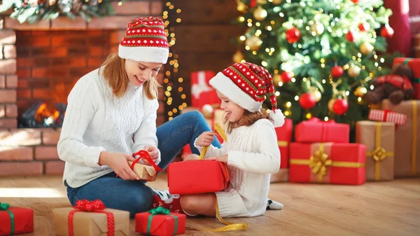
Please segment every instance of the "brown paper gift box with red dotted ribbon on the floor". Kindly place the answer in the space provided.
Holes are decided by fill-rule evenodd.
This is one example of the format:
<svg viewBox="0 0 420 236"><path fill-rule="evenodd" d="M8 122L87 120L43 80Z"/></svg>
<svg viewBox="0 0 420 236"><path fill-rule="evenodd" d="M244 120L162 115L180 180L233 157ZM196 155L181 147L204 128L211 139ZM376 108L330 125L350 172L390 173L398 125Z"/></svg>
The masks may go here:
<svg viewBox="0 0 420 236"><path fill-rule="evenodd" d="M69 236L69 213L73 207L52 209L54 216L55 235ZM106 208L104 211L114 215L115 236L130 235L130 212ZM106 214L78 211L73 216L74 236L106 236L108 222Z"/></svg>

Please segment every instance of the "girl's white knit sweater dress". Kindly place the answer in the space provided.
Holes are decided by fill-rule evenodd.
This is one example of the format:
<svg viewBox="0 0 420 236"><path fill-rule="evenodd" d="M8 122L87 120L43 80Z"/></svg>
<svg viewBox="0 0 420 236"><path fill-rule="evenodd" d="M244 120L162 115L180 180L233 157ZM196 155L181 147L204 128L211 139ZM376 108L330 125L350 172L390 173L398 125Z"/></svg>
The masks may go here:
<svg viewBox="0 0 420 236"><path fill-rule="evenodd" d="M205 156L228 154L230 183L228 188L216 193L221 216L260 216L267 207L270 174L280 167L274 126L269 120L261 119L249 127L238 127L227 136L222 148L209 146ZM202 151L202 147L195 147Z"/></svg>

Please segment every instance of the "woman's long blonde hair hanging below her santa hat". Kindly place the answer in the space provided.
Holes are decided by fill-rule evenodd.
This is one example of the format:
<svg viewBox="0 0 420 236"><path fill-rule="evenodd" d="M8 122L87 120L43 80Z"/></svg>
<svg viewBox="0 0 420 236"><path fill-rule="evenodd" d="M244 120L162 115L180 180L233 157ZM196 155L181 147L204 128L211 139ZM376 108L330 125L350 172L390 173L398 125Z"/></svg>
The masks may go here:
<svg viewBox="0 0 420 236"><path fill-rule="evenodd" d="M113 95L123 97L130 83L125 72L125 59L118 57L118 53L112 53L102 63L101 67L103 68L102 75L106 83L112 88ZM158 88L160 87L161 85L153 77L150 81L144 83L143 90L148 99L155 99L158 97Z"/></svg>

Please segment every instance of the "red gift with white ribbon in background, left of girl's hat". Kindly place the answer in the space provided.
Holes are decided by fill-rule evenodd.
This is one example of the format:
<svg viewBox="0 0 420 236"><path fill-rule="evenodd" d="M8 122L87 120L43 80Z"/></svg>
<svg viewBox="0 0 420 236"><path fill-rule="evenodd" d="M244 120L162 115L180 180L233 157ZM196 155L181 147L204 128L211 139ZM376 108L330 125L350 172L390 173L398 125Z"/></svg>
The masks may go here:
<svg viewBox="0 0 420 236"><path fill-rule="evenodd" d="M191 72L191 106L202 108L205 104L217 104L220 99L209 81L216 74L213 71Z"/></svg>

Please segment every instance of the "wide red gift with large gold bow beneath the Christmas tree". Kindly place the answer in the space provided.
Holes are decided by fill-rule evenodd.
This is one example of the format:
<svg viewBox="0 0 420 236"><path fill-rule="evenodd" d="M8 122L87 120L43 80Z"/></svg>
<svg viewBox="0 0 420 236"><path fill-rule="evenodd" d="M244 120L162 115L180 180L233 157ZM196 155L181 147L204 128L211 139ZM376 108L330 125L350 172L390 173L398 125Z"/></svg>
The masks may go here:
<svg viewBox="0 0 420 236"><path fill-rule="evenodd" d="M290 144L290 182L365 183L366 146L363 144Z"/></svg>

